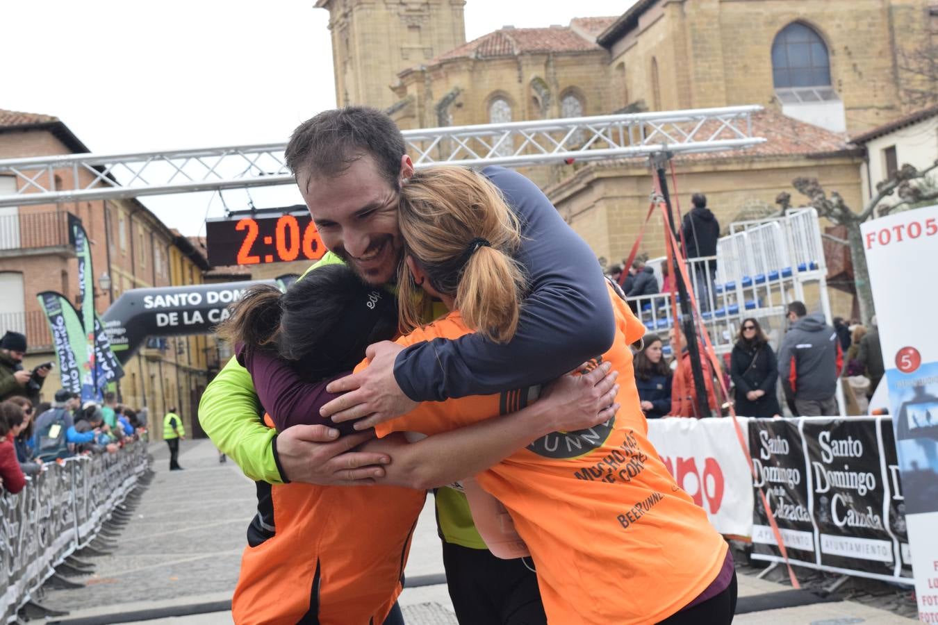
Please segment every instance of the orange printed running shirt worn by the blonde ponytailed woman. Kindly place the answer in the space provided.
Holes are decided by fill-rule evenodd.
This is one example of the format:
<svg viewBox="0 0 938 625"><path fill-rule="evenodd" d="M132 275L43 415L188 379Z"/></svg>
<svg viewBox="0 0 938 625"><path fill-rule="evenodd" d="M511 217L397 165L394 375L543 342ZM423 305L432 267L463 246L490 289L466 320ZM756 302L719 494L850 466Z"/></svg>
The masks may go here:
<svg viewBox="0 0 938 625"><path fill-rule="evenodd" d="M646 438L628 344L644 326L610 290L616 315L608 360L619 372L619 413L606 424L537 439L477 482L501 500L531 550L551 623L653 623L681 610L717 577L727 545L706 514L675 484ZM470 332L459 313L436 320L401 345ZM515 391L424 403L379 425L426 435L521 409Z"/></svg>

